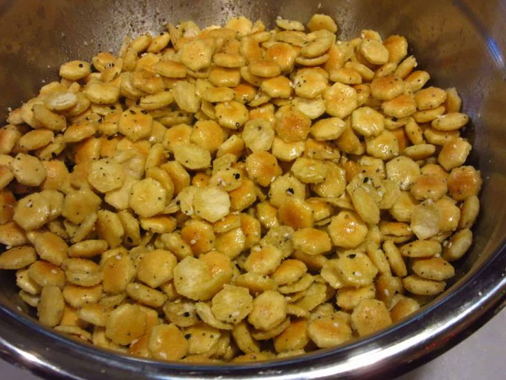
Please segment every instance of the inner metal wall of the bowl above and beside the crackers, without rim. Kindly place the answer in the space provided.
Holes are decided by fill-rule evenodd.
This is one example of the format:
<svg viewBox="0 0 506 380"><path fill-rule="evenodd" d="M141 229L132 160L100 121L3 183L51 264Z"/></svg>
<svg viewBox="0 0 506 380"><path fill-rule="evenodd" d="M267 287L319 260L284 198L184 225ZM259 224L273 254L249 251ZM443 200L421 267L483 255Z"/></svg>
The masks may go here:
<svg viewBox="0 0 506 380"><path fill-rule="evenodd" d="M320 4L320 8L318 5ZM117 52L126 34L160 32L162 23L192 20L200 26L245 15L273 27L277 16L307 21L316 12L333 16L340 39L362 29L382 36L401 34L419 68L439 87L456 87L472 118L470 161L485 180L474 245L459 262L456 280L503 244L506 222L506 85L501 51L506 46L504 10L496 2L473 1L0 1L0 120L57 78L70 59L91 59L100 50ZM12 273L0 273L0 302L23 306Z"/></svg>

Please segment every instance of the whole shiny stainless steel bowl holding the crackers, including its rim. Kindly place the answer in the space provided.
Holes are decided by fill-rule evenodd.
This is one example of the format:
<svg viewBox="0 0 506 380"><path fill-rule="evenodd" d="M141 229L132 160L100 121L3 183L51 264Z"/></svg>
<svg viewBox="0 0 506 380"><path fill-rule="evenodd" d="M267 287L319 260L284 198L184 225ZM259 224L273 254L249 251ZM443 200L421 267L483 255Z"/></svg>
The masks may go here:
<svg viewBox="0 0 506 380"><path fill-rule="evenodd" d="M320 8L318 7L320 5ZM448 291L401 322L340 348L241 366L188 366L146 361L66 339L21 314L14 276L0 273L0 355L41 376L98 379L223 377L324 379L378 377L430 360L472 333L505 303L506 290L506 6L500 1L307 0L0 0L0 119L30 98L41 80L56 78L68 59L117 50L125 34L157 32L163 21L200 25L244 14L273 23L331 14L342 39L362 28L404 34L432 83L456 86L473 120L472 162L485 184L472 251L458 264Z"/></svg>

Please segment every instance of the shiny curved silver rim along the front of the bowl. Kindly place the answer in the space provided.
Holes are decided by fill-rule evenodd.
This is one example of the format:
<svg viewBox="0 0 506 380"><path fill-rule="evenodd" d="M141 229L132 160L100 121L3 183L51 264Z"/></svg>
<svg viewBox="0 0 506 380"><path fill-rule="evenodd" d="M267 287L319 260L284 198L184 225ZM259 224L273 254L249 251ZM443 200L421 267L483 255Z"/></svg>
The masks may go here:
<svg viewBox="0 0 506 380"><path fill-rule="evenodd" d="M497 271L503 268L503 271ZM506 244L473 266L412 317L336 348L298 357L199 365L131 357L69 339L0 304L0 357L52 379L367 379L399 375L441 355L483 326L506 304Z"/></svg>

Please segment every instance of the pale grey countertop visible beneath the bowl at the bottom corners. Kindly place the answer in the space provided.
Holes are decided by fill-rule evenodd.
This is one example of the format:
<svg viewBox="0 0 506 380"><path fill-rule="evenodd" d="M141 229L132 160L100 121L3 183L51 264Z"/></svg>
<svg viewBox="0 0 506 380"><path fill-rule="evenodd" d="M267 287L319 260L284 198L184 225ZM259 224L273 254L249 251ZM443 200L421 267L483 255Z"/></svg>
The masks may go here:
<svg viewBox="0 0 506 380"><path fill-rule="evenodd" d="M506 372L506 308L448 352L397 380L502 380ZM4 380L40 380L27 370L0 361Z"/></svg>

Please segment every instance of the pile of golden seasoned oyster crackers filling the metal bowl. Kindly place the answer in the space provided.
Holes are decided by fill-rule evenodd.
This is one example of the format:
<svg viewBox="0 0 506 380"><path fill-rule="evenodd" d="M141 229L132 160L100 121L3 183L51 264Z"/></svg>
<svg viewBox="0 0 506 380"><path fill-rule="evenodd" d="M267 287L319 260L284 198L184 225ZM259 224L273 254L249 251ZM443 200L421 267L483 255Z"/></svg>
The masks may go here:
<svg viewBox="0 0 506 380"><path fill-rule="evenodd" d="M0 129L0 268L41 324L138 357L301 355L443 292L481 175L403 36L192 21L69 61Z"/></svg>

